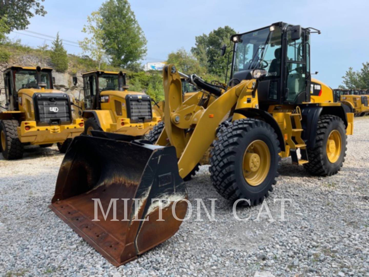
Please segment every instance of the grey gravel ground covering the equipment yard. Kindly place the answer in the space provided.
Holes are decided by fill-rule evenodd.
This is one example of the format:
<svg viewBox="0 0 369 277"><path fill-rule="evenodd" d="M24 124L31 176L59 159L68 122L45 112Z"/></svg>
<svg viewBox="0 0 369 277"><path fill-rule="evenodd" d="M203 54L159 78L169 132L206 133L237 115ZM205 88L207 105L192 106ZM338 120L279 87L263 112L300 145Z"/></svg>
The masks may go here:
<svg viewBox="0 0 369 277"><path fill-rule="evenodd" d="M0 275L5 276L369 276L369 117L355 118L339 174L311 177L282 161L266 200L277 221L258 216L261 206L238 208L212 187L208 167L187 183L189 199L218 198L216 222L190 220L168 241L115 268L48 208L63 155L56 147L27 150L25 158L0 155ZM280 201L286 204L280 219ZM210 210L210 201L204 200ZM265 209L263 210L265 212ZM268 275L269 272L270 274ZM256 276L257 274L255 274Z"/></svg>

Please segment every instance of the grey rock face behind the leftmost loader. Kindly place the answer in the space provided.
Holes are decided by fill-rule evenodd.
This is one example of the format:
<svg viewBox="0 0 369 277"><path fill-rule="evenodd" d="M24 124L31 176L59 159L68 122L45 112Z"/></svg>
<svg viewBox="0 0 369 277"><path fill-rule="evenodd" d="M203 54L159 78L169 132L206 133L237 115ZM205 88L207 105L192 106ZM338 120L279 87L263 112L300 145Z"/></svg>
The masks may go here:
<svg viewBox="0 0 369 277"><path fill-rule="evenodd" d="M51 67L52 64L49 59L39 58L32 55L24 55L18 58L16 61L13 61L11 64L4 63L0 64L0 88L4 88L4 78L3 72L12 65L20 65L20 66L41 66L41 67ZM82 80L82 72L77 72L76 74L70 74L68 72L61 73L61 72L52 72L52 76L55 78L54 89L61 90L62 92L68 93L70 100L72 100L73 96L78 99L79 92L83 89L83 80ZM73 76L77 76L78 83L76 86L73 85ZM81 91L81 93L83 93ZM81 98L83 95L81 95ZM5 106L5 91L1 89L0 94L0 106ZM4 109L0 108L0 111Z"/></svg>

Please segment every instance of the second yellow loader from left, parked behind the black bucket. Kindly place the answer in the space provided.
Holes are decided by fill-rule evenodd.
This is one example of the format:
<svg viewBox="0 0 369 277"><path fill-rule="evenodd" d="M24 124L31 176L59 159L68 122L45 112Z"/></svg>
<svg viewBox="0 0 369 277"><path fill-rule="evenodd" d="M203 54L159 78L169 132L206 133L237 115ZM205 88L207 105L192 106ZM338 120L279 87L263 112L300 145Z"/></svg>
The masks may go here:
<svg viewBox="0 0 369 277"><path fill-rule="evenodd" d="M161 121L153 116L150 96L128 90L125 73L90 71L82 77L86 134L100 130L143 136ZM73 81L76 84L76 78Z"/></svg>

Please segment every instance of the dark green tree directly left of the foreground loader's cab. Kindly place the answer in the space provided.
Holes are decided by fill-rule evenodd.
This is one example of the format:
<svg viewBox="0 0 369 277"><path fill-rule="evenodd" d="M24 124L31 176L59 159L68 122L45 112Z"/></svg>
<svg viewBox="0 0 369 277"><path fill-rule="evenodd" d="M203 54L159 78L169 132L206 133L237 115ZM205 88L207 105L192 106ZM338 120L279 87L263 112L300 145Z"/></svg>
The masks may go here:
<svg viewBox="0 0 369 277"><path fill-rule="evenodd" d="M229 26L219 27L217 30L211 31L208 35L203 34L195 38L195 47L191 48L192 54L199 60L201 66L206 66L207 71L217 76L225 76L227 68L228 52L221 57L220 48L230 42L230 36L235 34Z"/></svg>

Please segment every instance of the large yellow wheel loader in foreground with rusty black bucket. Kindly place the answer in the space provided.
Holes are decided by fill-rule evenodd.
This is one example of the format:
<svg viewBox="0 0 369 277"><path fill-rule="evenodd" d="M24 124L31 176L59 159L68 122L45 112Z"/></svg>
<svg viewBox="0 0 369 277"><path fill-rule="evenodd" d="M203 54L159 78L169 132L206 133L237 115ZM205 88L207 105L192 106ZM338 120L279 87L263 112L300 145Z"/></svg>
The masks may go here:
<svg viewBox="0 0 369 277"><path fill-rule="evenodd" d="M281 157L311 174L336 174L353 114L342 103L312 102L321 97L311 96L312 30L280 22L232 35L227 85L166 65L165 126L156 144L102 131L75 138L51 209L119 266L178 230L188 201L183 178L209 149L214 187L246 205L272 191ZM199 90L186 100L181 76Z"/></svg>

